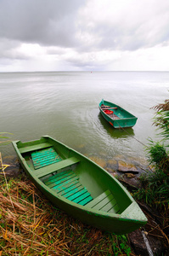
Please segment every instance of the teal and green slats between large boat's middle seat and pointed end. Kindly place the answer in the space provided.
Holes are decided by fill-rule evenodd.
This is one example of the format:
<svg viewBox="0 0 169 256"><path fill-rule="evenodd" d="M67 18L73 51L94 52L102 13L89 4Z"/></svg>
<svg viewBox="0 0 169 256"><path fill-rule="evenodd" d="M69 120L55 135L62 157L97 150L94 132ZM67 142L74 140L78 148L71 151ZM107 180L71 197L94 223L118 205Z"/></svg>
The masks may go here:
<svg viewBox="0 0 169 256"><path fill-rule="evenodd" d="M54 176L45 178L43 183L66 199L93 208L93 210L109 213L117 213L120 210L109 189L93 199L93 196L80 183L79 178L72 170L59 172Z"/></svg>

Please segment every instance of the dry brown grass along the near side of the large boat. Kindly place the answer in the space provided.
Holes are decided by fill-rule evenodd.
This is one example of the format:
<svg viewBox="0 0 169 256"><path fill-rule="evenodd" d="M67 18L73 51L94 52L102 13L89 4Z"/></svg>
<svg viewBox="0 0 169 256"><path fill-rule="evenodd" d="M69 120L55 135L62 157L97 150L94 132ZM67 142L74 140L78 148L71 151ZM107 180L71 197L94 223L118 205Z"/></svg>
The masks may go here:
<svg viewBox="0 0 169 256"><path fill-rule="evenodd" d="M25 175L8 180L8 189L2 175L0 184L0 256L133 255L126 236L113 236L70 218Z"/></svg>

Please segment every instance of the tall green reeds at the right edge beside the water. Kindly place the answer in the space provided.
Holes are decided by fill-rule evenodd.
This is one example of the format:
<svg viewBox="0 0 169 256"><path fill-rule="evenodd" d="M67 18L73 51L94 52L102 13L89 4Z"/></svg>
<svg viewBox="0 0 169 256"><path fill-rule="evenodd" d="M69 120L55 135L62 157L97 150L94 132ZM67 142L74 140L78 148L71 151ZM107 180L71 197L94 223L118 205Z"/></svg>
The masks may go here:
<svg viewBox="0 0 169 256"><path fill-rule="evenodd" d="M160 130L163 139L157 143L149 140L146 151L153 169L152 172L147 172L146 175L140 178L142 189L138 189L134 193L134 197L161 212L164 225L167 225L169 221L169 155L166 148L169 146L169 100L154 108L157 110L154 125Z"/></svg>

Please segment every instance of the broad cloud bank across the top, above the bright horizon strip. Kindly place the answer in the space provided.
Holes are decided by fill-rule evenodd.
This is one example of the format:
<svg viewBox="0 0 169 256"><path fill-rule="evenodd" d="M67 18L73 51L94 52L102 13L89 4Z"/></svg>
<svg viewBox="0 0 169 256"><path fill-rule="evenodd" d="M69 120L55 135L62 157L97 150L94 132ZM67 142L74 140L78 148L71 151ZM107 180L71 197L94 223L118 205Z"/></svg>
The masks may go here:
<svg viewBox="0 0 169 256"><path fill-rule="evenodd" d="M86 9L90 13L82 10L80 16L78 10L85 8L85 3L85 0L1 0L0 36L43 45L124 50L154 46L169 39L169 3L165 0L161 8L154 7L158 1L151 2L148 10L142 4L134 6L134 1L116 12L107 6L103 9L108 12L107 18L94 1L91 3L95 3L96 8L89 4ZM80 26L77 26L78 21ZM88 44L86 39L76 38L78 32L99 40Z"/></svg>

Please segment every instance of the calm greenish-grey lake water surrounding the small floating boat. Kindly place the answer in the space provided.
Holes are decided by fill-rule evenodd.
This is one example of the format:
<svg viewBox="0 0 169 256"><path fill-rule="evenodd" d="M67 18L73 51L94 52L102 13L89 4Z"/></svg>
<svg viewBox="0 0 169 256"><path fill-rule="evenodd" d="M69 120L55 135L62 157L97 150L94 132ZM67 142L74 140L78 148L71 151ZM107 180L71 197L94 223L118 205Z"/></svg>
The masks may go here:
<svg viewBox="0 0 169 256"><path fill-rule="evenodd" d="M21 141L49 135L104 160L144 157L141 143L157 134L150 108L168 99L168 89L168 72L0 73L0 131ZM99 113L102 99L133 113L137 124L115 130ZM11 144L0 151L14 154Z"/></svg>

